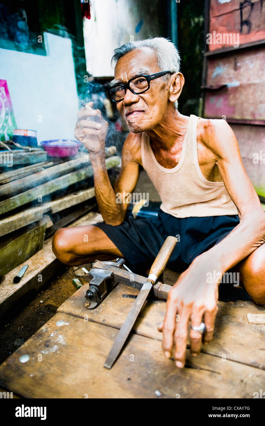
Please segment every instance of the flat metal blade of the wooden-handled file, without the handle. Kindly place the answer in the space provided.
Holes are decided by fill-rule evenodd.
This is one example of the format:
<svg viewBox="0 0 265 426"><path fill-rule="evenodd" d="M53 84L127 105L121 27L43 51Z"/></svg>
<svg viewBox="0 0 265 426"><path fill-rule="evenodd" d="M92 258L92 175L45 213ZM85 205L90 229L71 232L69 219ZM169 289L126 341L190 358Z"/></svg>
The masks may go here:
<svg viewBox="0 0 265 426"><path fill-rule="evenodd" d="M132 305L132 309L130 310L126 320L124 321L120 331L118 332L114 340L112 348L109 351L109 355L104 364L105 368L111 368L115 363L116 359L118 358L118 355L121 352L121 349L123 348L124 343L126 342L127 337L129 336L135 321L137 320L137 317L141 311L141 308L144 305L144 302L147 299L148 294L150 293L152 286L152 282L146 282L139 291L137 299Z"/></svg>

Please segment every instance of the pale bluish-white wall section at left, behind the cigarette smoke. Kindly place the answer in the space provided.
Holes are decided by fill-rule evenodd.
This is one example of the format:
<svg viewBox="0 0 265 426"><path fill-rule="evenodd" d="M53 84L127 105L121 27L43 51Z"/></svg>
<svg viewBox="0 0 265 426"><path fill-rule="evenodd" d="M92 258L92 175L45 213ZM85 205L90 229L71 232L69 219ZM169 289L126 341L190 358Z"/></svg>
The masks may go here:
<svg viewBox="0 0 265 426"><path fill-rule="evenodd" d="M44 33L47 56L0 49L18 129L37 130L37 141L74 139L78 113L72 42ZM42 116L42 122L40 117Z"/></svg>

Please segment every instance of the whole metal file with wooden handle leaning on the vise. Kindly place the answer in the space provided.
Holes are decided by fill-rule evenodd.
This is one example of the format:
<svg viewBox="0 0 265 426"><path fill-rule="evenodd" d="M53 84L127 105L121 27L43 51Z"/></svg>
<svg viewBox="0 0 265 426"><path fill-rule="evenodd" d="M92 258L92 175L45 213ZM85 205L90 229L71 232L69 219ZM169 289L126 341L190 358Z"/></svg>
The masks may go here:
<svg viewBox="0 0 265 426"><path fill-rule="evenodd" d="M127 337L129 336L135 321L137 320L137 317L144 305L144 302L147 299L148 294L150 293L153 284L155 284L158 276L161 275L161 273L164 271L164 268L166 267L177 242L178 240L175 237L169 236L159 250L156 259L151 266L147 282L143 284L141 290L139 291L139 294L134 304L132 305L132 309L130 310L126 320L117 334L117 337L115 338L112 348L109 351L109 355L104 364L105 368L111 368L118 358L118 355L120 354L121 349L123 348Z"/></svg>

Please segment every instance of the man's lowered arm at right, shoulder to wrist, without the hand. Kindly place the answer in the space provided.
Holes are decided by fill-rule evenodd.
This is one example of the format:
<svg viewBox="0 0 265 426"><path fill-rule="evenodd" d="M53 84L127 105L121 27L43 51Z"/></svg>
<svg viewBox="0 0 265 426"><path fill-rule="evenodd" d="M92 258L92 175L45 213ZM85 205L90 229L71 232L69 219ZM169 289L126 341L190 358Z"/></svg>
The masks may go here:
<svg viewBox="0 0 265 426"><path fill-rule="evenodd" d="M225 239L204 253L219 258L225 272L265 242L265 212L243 167L233 130L225 120L209 121L206 143L217 155L216 164L240 219Z"/></svg>

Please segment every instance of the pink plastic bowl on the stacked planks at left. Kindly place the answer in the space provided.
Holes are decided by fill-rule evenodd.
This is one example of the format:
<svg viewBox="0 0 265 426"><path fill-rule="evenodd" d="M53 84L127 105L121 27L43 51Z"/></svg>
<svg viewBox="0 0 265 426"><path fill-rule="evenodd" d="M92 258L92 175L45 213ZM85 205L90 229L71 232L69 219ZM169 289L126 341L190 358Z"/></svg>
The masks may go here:
<svg viewBox="0 0 265 426"><path fill-rule="evenodd" d="M43 141L41 146L50 157L73 157L78 153L81 143L66 139Z"/></svg>

